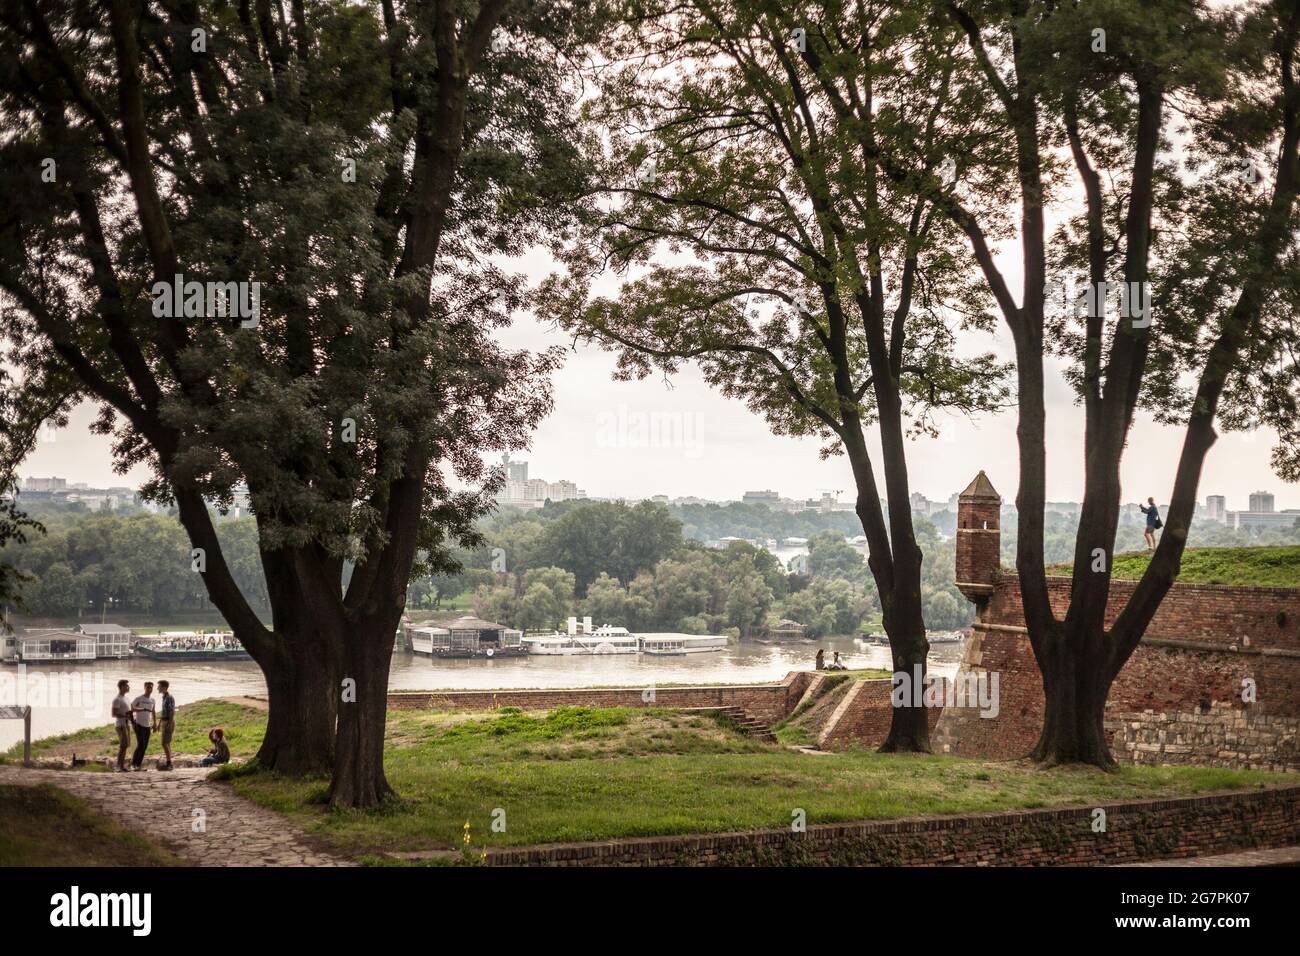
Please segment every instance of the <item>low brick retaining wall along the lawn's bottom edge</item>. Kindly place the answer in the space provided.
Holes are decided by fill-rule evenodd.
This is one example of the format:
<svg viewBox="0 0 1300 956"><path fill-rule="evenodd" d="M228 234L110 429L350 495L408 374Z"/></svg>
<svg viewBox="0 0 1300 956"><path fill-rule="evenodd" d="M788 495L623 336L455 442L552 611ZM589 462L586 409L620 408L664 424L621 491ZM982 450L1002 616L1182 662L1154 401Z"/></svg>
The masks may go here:
<svg viewBox="0 0 1300 956"><path fill-rule="evenodd" d="M810 825L647 836L488 851L504 866L1095 866L1295 845L1300 787L1101 804L1093 808L976 813L879 823Z"/></svg>

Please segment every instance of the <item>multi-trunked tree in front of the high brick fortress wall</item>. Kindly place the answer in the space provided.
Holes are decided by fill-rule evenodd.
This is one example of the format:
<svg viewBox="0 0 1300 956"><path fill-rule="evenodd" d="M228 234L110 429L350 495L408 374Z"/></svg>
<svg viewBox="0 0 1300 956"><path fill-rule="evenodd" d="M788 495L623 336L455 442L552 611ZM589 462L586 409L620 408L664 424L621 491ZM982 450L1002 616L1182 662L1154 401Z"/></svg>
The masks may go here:
<svg viewBox="0 0 1300 956"><path fill-rule="evenodd" d="M1297 473L1300 4L919 5L962 43L918 69L966 90L983 122L940 130L965 157L956 190L940 193L902 151L874 160L963 230L1014 342L1015 563L1046 697L1034 757L1109 766L1106 696L1178 576L1216 423L1275 425L1275 463ZM996 258L1010 229L1019 294ZM1086 419L1063 618L1043 541L1053 355L1070 360ZM1143 406L1184 429L1183 449L1160 545L1108 624L1119 466Z"/></svg>

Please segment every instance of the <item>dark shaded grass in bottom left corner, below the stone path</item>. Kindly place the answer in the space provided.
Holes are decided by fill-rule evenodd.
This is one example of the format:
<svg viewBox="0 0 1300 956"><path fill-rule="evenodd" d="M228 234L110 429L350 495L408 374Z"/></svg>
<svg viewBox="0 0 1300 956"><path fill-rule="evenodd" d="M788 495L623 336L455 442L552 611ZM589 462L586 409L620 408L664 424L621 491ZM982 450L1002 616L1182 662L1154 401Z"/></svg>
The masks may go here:
<svg viewBox="0 0 1300 956"><path fill-rule="evenodd" d="M0 866L176 866L178 860L57 787L0 786Z"/></svg>

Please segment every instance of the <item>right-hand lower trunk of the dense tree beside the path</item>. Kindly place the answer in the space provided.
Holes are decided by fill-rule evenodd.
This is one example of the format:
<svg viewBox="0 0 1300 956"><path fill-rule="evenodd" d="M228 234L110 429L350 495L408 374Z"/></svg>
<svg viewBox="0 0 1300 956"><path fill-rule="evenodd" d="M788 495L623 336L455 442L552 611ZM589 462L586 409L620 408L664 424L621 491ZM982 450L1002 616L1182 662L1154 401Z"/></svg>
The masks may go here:
<svg viewBox="0 0 1300 956"><path fill-rule="evenodd" d="M378 806L393 793L384 774L384 731L398 620L376 617L354 622L348 635L330 806Z"/></svg>

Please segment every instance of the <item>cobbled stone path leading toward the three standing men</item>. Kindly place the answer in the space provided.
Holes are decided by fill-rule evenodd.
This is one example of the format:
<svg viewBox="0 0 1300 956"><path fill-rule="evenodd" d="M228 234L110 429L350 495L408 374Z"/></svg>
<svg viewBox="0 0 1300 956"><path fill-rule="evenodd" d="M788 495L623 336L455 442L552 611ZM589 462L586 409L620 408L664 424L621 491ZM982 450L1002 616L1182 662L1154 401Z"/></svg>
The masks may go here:
<svg viewBox="0 0 1300 956"><path fill-rule="evenodd" d="M209 783L207 767L143 773L39 770L0 765L0 784L48 783L195 866L351 866L308 845L277 813Z"/></svg>

